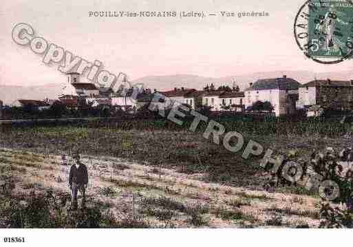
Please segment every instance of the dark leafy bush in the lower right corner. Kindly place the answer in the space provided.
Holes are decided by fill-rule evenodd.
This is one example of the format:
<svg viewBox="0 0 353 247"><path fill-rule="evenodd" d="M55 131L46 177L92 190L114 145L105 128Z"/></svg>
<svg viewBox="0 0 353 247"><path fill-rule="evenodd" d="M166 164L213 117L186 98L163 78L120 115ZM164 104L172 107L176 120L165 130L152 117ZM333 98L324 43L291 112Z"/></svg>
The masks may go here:
<svg viewBox="0 0 353 247"><path fill-rule="evenodd" d="M281 160L279 165L271 161L264 167L271 176L268 184L264 186L267 191L273 192L277 186L307 185L308 178L312 178L312 174L316 173L316 178L313 177L315 180L320 178L319 182L322 183L330 181L325 186L310 186L312 190L319 188L322 199L319 204L321 218L319 227L353 228L353 171L343 169L343 164L353 162L353 149L348 148L338 152L328 147L325 153L313 150L310 157L305 159L291 150L286 155L275 158ZM286 164L289 162L292 162L291 167L295 169L286 169ZM284 176L284 174L287 175Z"/></svg>

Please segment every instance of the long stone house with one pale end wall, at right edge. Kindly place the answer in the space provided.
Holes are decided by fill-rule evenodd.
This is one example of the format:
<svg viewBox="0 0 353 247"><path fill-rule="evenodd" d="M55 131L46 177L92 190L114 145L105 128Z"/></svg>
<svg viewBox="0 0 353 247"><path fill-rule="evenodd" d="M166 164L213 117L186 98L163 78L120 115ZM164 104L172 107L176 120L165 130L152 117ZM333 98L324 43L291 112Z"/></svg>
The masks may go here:
<svg viewBox="0 0 353 247"><path fill-rule="evenodd" d="M317 105L339 111L353 109L353 80L312 80L299 87L297 108Z"/></svg>

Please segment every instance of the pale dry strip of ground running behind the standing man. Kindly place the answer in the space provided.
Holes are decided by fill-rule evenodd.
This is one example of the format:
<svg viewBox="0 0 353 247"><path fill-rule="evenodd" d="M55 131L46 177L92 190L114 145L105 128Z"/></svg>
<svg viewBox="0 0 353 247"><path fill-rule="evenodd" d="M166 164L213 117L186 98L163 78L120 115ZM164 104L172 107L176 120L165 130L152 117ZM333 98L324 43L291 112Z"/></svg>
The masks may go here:
<svg viewBox="0 0 353 247"><path fill-rule="evenodd" d="M84 155L88 200L114 217L133 212L153 227L295 227L319 225L319 199L305 195L250 191L198 180L171 169L156 169L111 157ZM0 149L0 165L12 167L14 193L53 189L69 193L69 166L58 155ZM196 215L195 215L196 214Z"/></svg>

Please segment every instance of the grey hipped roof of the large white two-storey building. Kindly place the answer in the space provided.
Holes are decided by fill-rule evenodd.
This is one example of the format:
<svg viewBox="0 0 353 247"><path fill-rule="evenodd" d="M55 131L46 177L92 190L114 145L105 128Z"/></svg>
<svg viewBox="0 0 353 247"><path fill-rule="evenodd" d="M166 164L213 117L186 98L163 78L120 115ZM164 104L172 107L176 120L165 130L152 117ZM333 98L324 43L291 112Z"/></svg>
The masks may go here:
<svg viewBox="0 0 353 247"><path fill-rule="evenodd" d="M297 80L287 77L259 79L246 90L264 90L264 89L298 89L300 83Z"/></svg>

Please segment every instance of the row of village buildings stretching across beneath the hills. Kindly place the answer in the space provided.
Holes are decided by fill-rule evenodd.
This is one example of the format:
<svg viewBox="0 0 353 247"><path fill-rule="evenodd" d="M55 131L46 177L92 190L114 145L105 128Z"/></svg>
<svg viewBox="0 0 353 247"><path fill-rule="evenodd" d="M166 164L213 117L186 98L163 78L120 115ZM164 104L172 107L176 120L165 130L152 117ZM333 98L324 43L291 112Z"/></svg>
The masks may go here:
<svg viewBox="0 0 353 247"><path fill-rule="evenodd" d="M126 82L124 82L126 83ZM281 78L264 78L250 83L241 91L233 78L233 86L206 85L199 89L174 87L169 91L143 88L136 98L131 97L130 88L121 85L117 92L112 89L98 88L94 83L81 83L80 74L68 73L67 83L57 99L33 100L20 98L10 105L0 100L0 118L6 118L3 110L11 107L29 107L39 111L50 109L59 104L66 109L80 111L87 107L98 110L116 110L133 113L144 105L149 105L156 93L166 96L159 103L166 109L174 101L187 105L190 109L200 110L207 107L210 111L232 111L242 113L261 112L272 116L290 116L298 111L306 116L321 116L326 109L350 111L353 109L353 80L334 80L330 78L299 83L286 75Z"/></svg>

